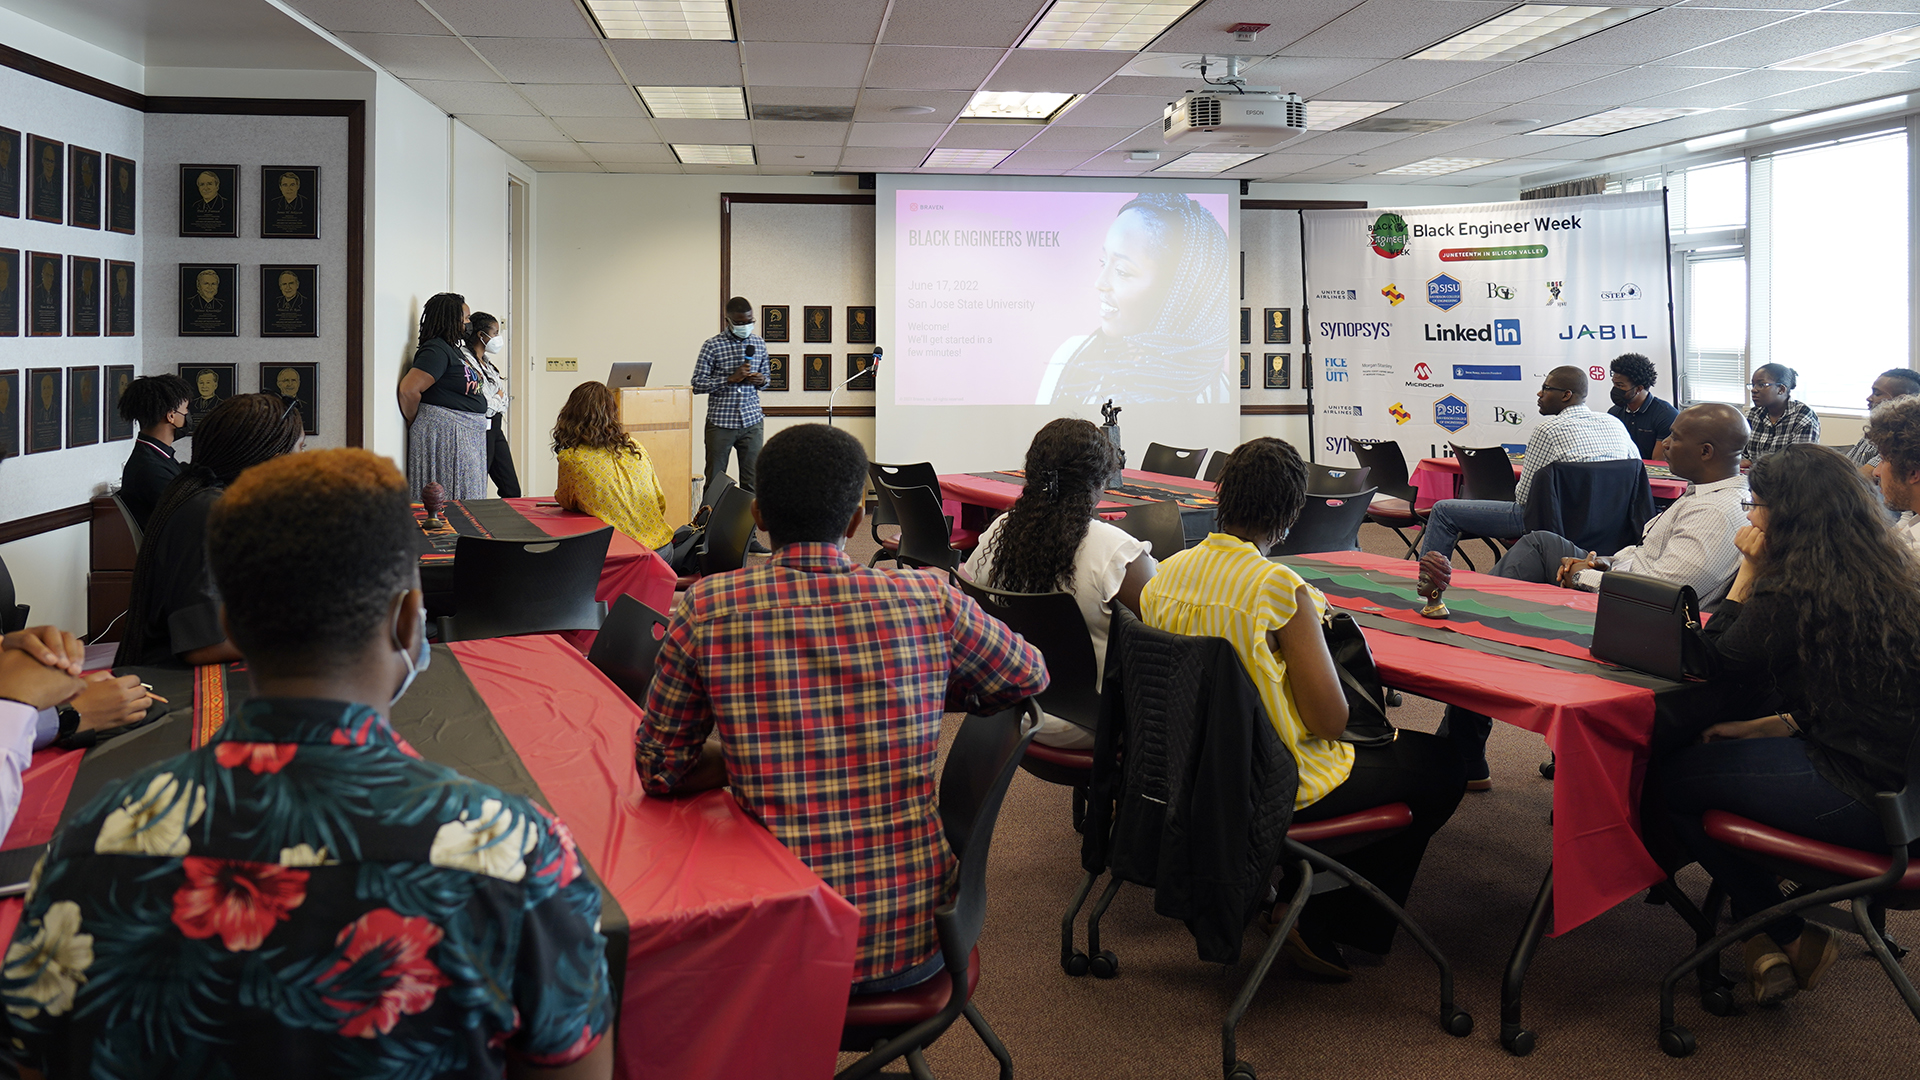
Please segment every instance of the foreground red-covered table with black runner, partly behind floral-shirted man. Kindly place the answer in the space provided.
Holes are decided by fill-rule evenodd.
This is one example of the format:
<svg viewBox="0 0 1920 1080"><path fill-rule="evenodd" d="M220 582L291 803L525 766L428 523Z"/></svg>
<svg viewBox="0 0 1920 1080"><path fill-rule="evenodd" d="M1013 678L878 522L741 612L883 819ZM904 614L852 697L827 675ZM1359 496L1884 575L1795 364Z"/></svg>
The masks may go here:
<svg viewBox="0 0 1920 1080"><path fill-rule="evenodd" d="M44 749L0 847L54 836L119 776L202 744L248 696L242 665L129 669L171 711L88 751ZM829 1076L858 911L733 798L655 799L634 771L639 713L557 636L434 646L392 709L422 757L549 807L601 886L622 1078ZM0 899L12 938L21 901Z"/></svg>

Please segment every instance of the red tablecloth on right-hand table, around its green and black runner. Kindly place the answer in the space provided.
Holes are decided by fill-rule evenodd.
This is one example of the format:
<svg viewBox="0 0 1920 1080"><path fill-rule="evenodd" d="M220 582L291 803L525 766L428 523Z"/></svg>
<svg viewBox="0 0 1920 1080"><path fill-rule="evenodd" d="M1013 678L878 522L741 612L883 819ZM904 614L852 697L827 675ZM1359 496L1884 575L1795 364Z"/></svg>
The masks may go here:
<svg viewBox="0 0 1920 1080"><path fill-rule="evenodd" d="M1311 555L1413 578L1415 563L1367 552ZM1592 611L1596 594L1453 571L1453 590ZM1428 621L1428 626L1446 623ZM1553 749L1553 932L1632 897L1665 874L1640 842L1640 784L1653 738L1653 692L1596 675L1488 655L1367 626L1388 686L1486 713L1546 736Z"/></svg>

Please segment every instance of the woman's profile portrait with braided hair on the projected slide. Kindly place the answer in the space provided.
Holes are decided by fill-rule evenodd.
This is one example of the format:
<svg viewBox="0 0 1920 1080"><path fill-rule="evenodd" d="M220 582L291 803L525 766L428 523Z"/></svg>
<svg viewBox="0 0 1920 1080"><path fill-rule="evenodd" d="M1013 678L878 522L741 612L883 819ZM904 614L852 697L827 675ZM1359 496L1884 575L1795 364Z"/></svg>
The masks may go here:
<svg viewBox="0 0 1920 1080"><path fill-rule="evenodd" d="M1035 404L1231 402L1227 231L1179 192L1119 208L1092 279L1096 325L1060 342Z"/></svg>

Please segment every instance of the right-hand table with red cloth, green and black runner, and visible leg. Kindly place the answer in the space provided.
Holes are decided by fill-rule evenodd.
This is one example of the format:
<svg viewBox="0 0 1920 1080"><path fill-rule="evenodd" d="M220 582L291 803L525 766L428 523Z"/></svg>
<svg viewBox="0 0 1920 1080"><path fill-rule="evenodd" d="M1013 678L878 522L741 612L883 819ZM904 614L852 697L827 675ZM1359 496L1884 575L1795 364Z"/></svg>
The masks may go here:
<svg viewBox="0 0 1920 1080"><path fill-rule="evenodd" d="M1534 949L1667 878L1647 853L1640 796L1657 724L1680 726L1703 682L1596 661L1596 594L1453 571L1450 619L1427 619L1417 563L1367 552L1283 555L1365 628L1382 682L1486 713L1553 749L1553 861L1501 984L1501 1043L1532 1049L1521 997Z"/></svg>

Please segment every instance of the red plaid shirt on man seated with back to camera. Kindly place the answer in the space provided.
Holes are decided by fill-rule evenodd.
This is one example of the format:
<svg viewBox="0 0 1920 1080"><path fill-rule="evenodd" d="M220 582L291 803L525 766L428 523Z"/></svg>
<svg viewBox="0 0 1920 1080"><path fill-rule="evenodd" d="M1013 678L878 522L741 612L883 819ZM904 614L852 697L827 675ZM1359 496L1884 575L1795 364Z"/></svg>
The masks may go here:
<svg viewBox="0 0 1920 1080"><path fill-rule="evenodd" d="M860 909L854 980L883 978L933 955L952 886L933 794L941 713L1044 688L1041 653L937 573L787 544L701 578L674 609L639 776L666 794L718 730L739 805Z"/></svg>

